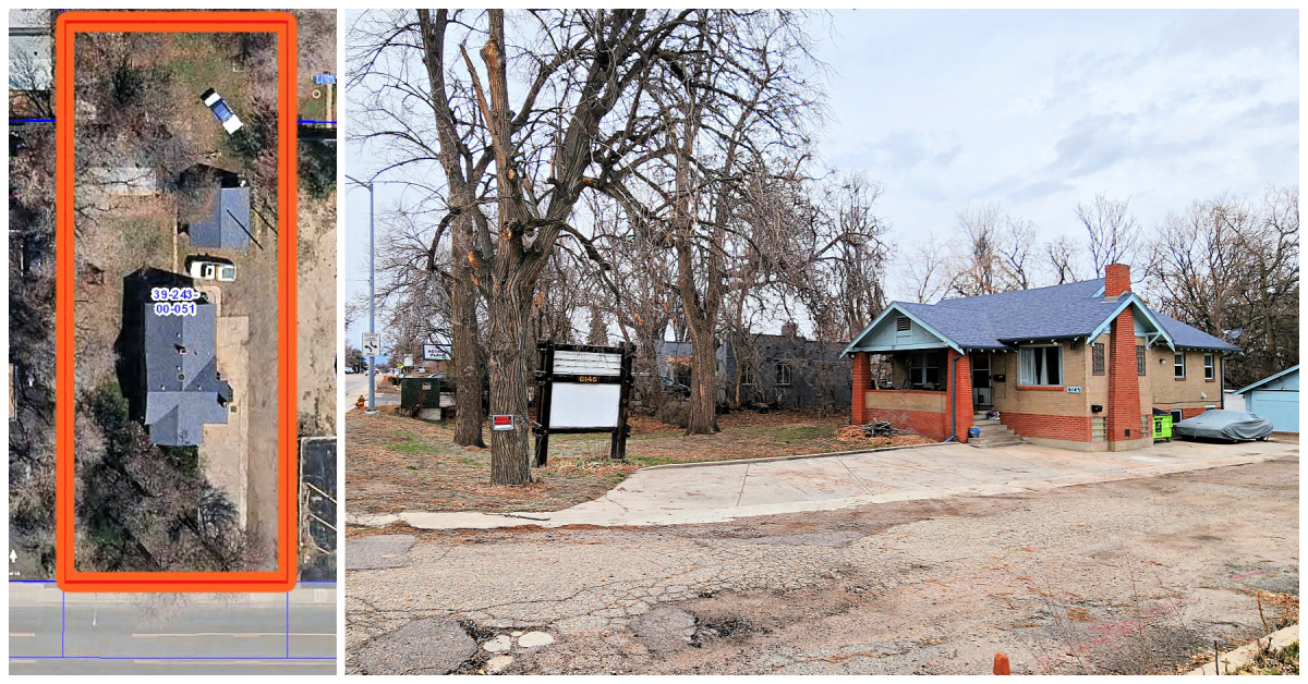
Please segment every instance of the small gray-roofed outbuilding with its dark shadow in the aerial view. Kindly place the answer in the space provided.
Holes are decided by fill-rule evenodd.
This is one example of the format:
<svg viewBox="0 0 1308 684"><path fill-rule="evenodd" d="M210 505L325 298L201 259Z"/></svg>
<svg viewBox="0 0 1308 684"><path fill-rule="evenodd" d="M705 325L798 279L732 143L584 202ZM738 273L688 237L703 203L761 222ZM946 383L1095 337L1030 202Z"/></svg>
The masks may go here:
<svg viewBox="0 0 1308 684"><path fill-rule="evenodd" d="M178 179L178 230L191 245L250 248L250 187L237 174L198 163Z"/></svg>

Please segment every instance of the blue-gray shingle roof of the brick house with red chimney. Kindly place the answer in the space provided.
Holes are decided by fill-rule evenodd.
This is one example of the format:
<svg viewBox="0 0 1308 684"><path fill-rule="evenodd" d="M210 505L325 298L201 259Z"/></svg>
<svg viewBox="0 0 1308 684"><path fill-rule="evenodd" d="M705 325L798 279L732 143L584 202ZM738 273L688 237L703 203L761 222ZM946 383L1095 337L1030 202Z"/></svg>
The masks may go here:
<svg viewBox="0 0 1308 684"><path fill-rule="evenodd" d="M1086 337L1117 307L1099 293L1104 279L1049 288L943 299L934 305L895 302L964 349L1006 349L1022 340ZM1180 320L1148 310L1177 347L1239 351Z"/></svg>

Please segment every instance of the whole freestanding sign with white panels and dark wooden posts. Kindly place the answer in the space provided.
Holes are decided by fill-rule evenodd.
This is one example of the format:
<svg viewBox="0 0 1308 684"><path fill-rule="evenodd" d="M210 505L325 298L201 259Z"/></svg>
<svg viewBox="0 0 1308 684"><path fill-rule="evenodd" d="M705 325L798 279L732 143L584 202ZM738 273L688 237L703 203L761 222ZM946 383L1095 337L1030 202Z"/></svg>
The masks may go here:
<svg viewBox="0 0 1308 684"><path fill-rule="evenodd" d="M627 460L630 433L632 358L636 345L536 345L536 454L544 467L551 434L611 433L608 456Z"/></svg>

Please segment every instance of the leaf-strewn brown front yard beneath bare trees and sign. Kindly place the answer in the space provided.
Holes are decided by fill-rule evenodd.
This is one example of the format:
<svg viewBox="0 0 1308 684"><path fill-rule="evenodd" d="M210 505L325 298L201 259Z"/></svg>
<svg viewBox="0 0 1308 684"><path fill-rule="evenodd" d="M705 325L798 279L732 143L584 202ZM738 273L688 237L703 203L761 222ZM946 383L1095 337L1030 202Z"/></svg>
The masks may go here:
<svg viewBox="0 0 1308 684"><path fill-rule="evenodd" d="M886 445L841 442L835 433L844 420L795 411L736 412L721 416L718 434L685 437L675 426L637 417L628 463L608 459L607 434L559 434L549 441L548 467L532 471L536 481L492 487L489 450L455 446L445 424L405 417L399 407L381 407L377 416L352 409L345 415L347 505L352 513L549 511L600 497L641 466L929 442L918 436Z"/></svg>

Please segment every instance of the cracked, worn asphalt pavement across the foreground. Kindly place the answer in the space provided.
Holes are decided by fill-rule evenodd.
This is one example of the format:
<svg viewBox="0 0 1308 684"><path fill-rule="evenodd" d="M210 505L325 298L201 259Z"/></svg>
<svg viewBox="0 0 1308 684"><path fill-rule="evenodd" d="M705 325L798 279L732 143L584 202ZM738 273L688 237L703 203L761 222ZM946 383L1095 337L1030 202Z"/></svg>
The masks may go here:
<svg viewBox="0 0 1308 684"><path fill-rule="evenodd" d="M348 572L349 672L422 619L556 637L506 674L986 674L995 653L1163 672L1261 634L1257 590L1298 595L1299 459L729 523L385 531L417 541Z"/></svg>

